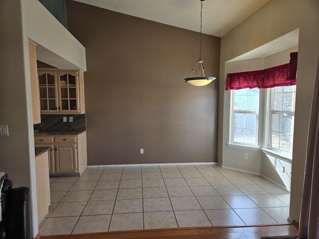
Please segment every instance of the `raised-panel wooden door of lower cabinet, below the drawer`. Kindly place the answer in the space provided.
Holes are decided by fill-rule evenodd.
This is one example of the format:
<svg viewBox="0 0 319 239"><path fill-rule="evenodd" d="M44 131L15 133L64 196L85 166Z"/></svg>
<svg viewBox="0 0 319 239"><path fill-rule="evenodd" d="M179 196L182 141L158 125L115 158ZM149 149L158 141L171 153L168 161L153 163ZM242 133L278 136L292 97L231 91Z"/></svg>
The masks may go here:
<svg viewBox="0 0 319 239"><path fill-rule="evenodd" d="M56 173L75 173L76 144L55 144Z"/></svg>

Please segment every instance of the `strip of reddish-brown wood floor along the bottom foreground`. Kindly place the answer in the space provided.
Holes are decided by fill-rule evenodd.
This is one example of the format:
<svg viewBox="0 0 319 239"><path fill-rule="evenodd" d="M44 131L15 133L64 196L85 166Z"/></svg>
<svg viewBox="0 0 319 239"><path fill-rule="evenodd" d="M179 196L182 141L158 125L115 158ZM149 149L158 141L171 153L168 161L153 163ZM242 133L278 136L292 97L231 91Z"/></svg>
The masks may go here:
<svg viewBox="0 0 319 239"><path fill-rule="evenodd" d="M254 227L202 227L41 236L40 239L260 239L298 235L291 224Z"/></svg>

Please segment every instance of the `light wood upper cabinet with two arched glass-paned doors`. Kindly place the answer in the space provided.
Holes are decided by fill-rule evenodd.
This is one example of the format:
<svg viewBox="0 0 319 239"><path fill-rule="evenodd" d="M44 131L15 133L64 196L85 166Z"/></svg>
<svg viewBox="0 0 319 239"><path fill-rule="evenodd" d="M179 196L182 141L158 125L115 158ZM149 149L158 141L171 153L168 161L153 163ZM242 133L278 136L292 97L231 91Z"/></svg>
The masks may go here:
<svg viewBox="0 0 319 239"><path fill-rule="evenodd" d="M38 69L41 114L84 114L81 70Z"/></svg>

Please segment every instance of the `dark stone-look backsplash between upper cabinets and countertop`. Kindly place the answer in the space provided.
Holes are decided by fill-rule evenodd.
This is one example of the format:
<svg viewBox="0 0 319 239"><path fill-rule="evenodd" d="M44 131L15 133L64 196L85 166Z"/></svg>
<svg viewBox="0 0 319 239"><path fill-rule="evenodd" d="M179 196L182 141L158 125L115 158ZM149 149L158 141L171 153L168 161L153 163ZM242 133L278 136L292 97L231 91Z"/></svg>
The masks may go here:
<svg viewBox="0 0 319 239"><path fill-rule="evenodd" d="M67 122L63 122L63 117L66 117ZM73 117L73 122L69 122L69 117ZM34 124L33 127L39 131L86 130L86 115L41 115L41 123Z"/></svg>

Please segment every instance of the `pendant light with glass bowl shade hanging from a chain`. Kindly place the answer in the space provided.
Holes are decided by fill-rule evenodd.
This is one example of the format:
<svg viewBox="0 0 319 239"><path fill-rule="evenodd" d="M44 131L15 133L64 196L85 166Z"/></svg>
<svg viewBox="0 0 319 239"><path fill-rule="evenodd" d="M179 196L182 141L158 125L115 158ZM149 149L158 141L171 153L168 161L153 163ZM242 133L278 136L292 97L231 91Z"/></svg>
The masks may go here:
<svg viewBox="0 0 319 239"><path fill-rule="evenodd" d="M203 10L203 1L200 0L200 36L199 36L199 59L195 65L195 67L191 70L189 76L185 78L185 82L193 86L205 86L210 82L216 79L216 77L207 76L205 72L205 68L203 66L203 61L201 59L201 21L202 21L202 10ZM199 76L198 77L190 77L191 74L195 71L195 68L199 65Z"/></svg>

